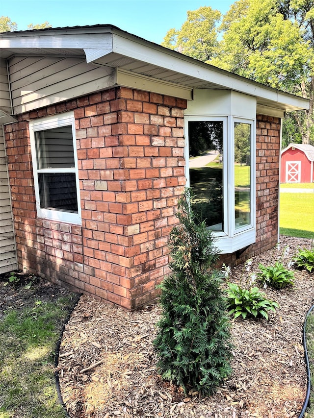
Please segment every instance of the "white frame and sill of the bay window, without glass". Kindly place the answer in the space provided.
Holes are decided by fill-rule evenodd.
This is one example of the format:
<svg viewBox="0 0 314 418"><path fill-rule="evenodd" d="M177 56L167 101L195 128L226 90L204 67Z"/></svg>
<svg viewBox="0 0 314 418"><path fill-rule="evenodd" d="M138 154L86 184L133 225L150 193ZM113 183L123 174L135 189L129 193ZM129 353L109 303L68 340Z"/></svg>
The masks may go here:
<svg viewBox="0 0 314 418"><path fill-rule="evenodd" d="M189 139L188 123L191 121L222 121L223 122L223 165L224 178L224 231L215 232L216 246L222 254L231 254L256 242L256 121L254 119L235 118L231 115L217 116L185 116L185 178L186 186L190 186L189 176ZM251 124L251 222L235 230L235 122ZM227 187L226 187L227 186Z"/></svg>

